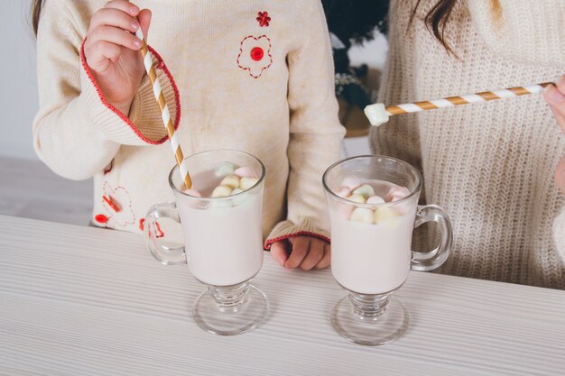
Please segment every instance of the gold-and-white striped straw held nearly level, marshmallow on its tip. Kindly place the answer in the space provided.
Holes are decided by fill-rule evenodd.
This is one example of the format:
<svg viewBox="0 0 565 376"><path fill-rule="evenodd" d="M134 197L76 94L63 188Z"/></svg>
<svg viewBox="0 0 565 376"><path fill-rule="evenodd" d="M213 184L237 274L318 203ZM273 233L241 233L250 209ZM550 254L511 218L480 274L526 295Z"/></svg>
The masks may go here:
<svg viewBox="0 0 565 376"><path fill-rule="evenodd" d="M529 85L527 87L510 87L496 91L485 91L477 94L469 94L467 96L449 96L448 98L435 99L431 101L423 101L416 103L407 103L404 105L387 105L386 113L390 115L401 115L417 113L424 110L433 110L436 108L452 107L454 105L468 105L471 103L486 102L502 98L512 98L514 96L525 96L527 94L538 94L543 91L544 87L551 85L551 82L544 82L537 85Z"/></svg>

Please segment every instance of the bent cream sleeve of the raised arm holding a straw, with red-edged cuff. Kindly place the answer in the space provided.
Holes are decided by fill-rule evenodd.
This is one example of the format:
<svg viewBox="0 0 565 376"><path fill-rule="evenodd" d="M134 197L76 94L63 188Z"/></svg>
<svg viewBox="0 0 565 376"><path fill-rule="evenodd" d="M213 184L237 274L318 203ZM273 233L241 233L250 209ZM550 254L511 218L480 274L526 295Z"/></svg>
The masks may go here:
<svg viewBox="0 0 565 376"><path fill-rule="evenodd" d="M120 145L166 140L148 78L140 84L129 118L107 103L84 57L84 29L60 2L46 2L37 39L40 106L33 145L51 170L68 179L88 179L103 170ZM176 128L178 91L156 53L153 60L161 67L158 76Z"/></svg>

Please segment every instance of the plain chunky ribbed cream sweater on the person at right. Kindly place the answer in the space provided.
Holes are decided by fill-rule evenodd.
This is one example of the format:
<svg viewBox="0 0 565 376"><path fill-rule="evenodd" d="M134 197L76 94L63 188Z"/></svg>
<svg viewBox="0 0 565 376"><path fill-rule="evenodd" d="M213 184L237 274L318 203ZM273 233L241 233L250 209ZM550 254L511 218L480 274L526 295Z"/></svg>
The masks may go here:
<svg viewBox="0 0 565 376"><path fill-rule="evenodd" d="M379 102L399 104L555 80L565 73L565 2L460 0L449 56L422 2L393 1ZM565 289L565 197L553 182L565 137L542 96L400 115L374 129L376 152L423 171L429 204L449 213L452 254L440 272ZM416 240L416 239L415 239ZM414 242L422 247L424 242Z"/></svg>

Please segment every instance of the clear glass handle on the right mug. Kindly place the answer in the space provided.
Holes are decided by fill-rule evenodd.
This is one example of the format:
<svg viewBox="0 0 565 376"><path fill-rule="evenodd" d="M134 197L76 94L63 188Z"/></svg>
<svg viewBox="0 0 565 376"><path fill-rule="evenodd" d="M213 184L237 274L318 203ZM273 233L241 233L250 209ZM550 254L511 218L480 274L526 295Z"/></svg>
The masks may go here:
<svg viewBox="0 0 565 376"><path fill-rule="evenodd" d="M435 222L440 227L440 244L431 252L412 251L412 271L433 271L448 259L453 243L453 231L449 216L440 206L418 206L414 228L426 222Z"/></svg>

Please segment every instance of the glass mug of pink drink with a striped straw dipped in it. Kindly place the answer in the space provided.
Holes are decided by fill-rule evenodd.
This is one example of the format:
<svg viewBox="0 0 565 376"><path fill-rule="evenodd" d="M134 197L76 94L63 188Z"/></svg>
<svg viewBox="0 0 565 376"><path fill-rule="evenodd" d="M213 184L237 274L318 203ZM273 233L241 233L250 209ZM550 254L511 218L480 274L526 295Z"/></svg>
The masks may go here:
<svg viewBox="0 0 565 376"><path fill-rule="evenodd" d="M265 169L243 151L203 151L185 159L193 188L211 191L214 172L225 162L250 167L259 181L229 197L196 197L183 192L178 167L169 174L175 202L152 206L144 222L147 247L166 265L188 264L196 280L207 286L197 298L196 323L216 335L238 335L255 329L269 305L264 293L249 283L263 264L262 204ZM207 186L208 185L208 186ZM158 238L159 218L181 224L184 246L171 248Z"/></svg>

